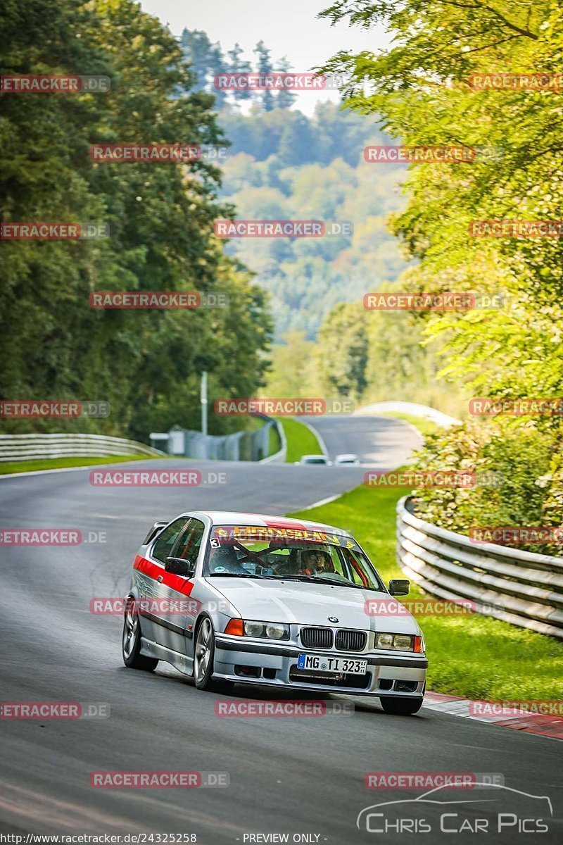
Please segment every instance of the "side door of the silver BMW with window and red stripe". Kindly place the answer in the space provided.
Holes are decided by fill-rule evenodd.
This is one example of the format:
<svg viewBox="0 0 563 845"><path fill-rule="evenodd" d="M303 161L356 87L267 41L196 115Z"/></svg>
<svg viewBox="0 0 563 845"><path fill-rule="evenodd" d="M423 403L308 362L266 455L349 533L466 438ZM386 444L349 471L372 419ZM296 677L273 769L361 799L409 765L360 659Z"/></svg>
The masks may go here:
<svg viewBox="0 0 563 845"><path fill-rule="evenodd" d="M205 526L192 518L184 519L179 526L172 523L168 528L170 532L165 529L166 536L163 537L165 532L162 532L152 549L151 557L159 569L154 570L156 577L151 579L151 601L141 612L151 625L155 642L177 654L186 655L186 638L192 635L192 630L187 627L187 608L192 603L193 575ZM170 558L173 560L170 561ZM197 612L189 615L195 618Z"/></svg>

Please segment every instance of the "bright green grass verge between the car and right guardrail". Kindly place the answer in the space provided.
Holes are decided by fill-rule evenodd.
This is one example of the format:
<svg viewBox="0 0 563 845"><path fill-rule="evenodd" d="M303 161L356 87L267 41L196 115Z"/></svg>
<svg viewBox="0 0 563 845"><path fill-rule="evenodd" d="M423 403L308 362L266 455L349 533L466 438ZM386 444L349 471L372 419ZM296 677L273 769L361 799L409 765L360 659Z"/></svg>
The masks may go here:
<svg viewBox="0 0 563 845"><path fill-rule="evenodd" d="M290 515L352 533L388 583L404 577L395 558L395 507L410 492L359 487L330 504ZM424 595L413 585L409 599ZM563 695L563 645L551 637L479 613L419 622L430 662L429 690L473 699L551 700Z"/></svg>

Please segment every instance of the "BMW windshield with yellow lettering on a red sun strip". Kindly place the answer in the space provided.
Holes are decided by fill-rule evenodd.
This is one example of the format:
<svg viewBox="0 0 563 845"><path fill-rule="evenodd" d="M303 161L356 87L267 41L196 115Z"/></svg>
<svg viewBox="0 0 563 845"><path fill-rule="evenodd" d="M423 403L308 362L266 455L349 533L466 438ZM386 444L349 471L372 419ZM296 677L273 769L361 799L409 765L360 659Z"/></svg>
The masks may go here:
<svg viewBox="0 0 563 845"><path fill-rule="evenodd" d="M214 526L203 575L309 581L387 592L355 540L328 530Z"/></svg>

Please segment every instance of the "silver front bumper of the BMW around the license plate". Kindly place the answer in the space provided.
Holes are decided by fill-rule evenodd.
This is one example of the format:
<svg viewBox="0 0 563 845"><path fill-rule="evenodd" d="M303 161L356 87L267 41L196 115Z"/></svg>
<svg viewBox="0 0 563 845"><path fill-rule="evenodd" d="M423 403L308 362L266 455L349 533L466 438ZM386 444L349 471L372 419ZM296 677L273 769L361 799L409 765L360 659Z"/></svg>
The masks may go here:
<svg viewBox="0 0 563 845"><path fill-rule="evenodd" d="M297 670L301 653L326 653L367 661L365 675L343 675ZM315 651L294 644L242 641L239 636L215 635L214 676L236 684L260 684L293 690L341 692L346 695L389 695L420 698L424 695L426 668L424 655L405 653L344 653ZM328 677L325 677L328 676Z"/></svg>

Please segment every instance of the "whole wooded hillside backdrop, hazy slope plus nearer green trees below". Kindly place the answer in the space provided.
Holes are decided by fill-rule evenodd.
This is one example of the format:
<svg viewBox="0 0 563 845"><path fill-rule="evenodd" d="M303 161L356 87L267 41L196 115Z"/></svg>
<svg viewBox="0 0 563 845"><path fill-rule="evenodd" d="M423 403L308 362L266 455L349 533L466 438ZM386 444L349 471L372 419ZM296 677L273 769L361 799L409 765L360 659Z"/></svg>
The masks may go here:
<svg viewBox="0 0 563 845"><path fill-rule="evenodd" d="M256 273L270 294L276 344L265 395L331 395L358 404L420 401L461 412L457 390L436 382L434 347L424 322L406 313L367 313L366 292L391 289L409 256L388 221L406 204L403 165L367 163L368 144L396 144L376 115L319 101L311 117L291 92L218 91L216 74L290 70L259 42L254 62L235 44L224 52L200 30L181 44L199 90L214 92L230 147L221 197L236 217L351 221L349 237L233 239L225 252ZM314 96L318 96L317 94Z"/></svg>

